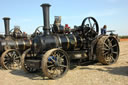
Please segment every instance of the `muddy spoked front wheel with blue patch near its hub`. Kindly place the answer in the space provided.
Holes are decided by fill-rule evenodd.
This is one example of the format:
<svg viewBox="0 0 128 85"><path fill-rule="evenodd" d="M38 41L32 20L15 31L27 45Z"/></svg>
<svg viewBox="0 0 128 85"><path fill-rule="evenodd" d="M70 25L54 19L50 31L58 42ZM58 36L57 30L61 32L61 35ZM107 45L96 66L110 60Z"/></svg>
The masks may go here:
<svg viewBox="0 0 128 85"><path fill-rule="evenodd" d="M69 69L67 53L59 48L47 51L42 57L42 71L50 79L64 76Z"/></svg>

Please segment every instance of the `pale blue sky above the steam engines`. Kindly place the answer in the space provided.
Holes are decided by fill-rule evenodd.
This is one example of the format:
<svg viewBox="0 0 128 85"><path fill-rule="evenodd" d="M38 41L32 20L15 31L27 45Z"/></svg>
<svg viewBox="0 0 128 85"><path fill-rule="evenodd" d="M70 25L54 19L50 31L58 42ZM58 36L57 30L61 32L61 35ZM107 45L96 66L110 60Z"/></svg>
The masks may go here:
<svg viewBox="0 0 128 85"><path fill-rule="evenodd" d="M20 26L31 34L43 25L43 3L51 4L50 24L54 16L62 16L62 25L80 26L83 19L92 16L102 28L128 35L128 0L0 0L0 33L4 32L3 17L10 17L10 29Z"/></svg>

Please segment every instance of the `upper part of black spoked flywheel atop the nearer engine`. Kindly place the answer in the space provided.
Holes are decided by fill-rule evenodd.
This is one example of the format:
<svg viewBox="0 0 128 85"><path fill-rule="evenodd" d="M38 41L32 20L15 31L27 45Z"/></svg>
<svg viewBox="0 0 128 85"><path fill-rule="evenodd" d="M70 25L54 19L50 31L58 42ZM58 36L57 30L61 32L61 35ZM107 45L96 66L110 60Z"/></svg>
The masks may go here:
<svg viewBox="0 0 128 85"><path fill-rule="evenodd" d="M82 24L82 31L84 31L84 28L90 28L90 30L93 30L96 32L96 34L99 34L99 25L95 18L93 17L87 17L83 20ZM88 30L88 32L90 31ZM87 33L88 33L87 32Z"/></svg>

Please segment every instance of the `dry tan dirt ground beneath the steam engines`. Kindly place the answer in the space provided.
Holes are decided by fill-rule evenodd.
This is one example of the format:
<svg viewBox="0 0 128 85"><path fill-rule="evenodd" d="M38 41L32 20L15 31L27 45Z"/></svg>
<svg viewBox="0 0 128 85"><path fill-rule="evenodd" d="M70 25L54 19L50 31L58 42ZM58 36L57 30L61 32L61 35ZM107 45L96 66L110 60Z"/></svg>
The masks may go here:
<svg viewBox="0 0 128 85"><path fill-rule="evenodd" d="M120 57L113 65L78 66L58 80L23 70L0 69L0 85L128 85L128 41L120 42Z"/></svg>

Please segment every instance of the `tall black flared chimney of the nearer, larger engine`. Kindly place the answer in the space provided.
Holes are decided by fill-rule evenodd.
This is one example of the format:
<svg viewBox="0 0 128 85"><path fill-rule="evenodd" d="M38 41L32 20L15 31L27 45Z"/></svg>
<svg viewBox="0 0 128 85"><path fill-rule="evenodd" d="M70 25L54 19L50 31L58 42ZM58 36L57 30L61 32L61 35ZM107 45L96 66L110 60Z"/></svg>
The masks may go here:
<svg viewBox="0 0 128 85"><path fill-rule="evenodd" d="M49 7L50 4L42 4L41 7L43 9L43 16L44 16L44 35L49 35L50 32L50 22L49 22Z"/></svg>

